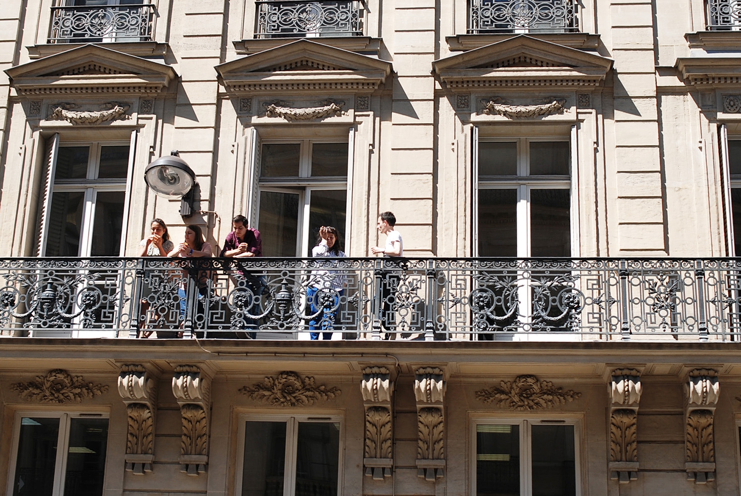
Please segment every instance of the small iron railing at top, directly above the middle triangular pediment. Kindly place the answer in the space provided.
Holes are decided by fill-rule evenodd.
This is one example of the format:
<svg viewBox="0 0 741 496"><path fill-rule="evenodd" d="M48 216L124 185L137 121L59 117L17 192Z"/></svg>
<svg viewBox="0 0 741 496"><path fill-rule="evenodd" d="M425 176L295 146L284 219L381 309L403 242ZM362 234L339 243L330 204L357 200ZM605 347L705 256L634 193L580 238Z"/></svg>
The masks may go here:
<svg viewBox="0 0 741 496"><path fill-rule="evenodd" d="M360 1L256 1L256 38L362 36Z"/></svg>

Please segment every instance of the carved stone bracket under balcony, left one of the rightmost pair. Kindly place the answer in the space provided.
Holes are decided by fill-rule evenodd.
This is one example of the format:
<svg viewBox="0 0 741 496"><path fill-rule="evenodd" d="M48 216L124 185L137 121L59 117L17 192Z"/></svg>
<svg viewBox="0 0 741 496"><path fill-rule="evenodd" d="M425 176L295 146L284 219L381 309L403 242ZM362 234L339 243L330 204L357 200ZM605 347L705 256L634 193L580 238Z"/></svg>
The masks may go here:
<svg viewBox="0 0 741 496"><path fill-rule="evenodd" d="M617 368L610 388L610 478L629 483L638 478L638 403L642 386L640 371Z"/></svg>

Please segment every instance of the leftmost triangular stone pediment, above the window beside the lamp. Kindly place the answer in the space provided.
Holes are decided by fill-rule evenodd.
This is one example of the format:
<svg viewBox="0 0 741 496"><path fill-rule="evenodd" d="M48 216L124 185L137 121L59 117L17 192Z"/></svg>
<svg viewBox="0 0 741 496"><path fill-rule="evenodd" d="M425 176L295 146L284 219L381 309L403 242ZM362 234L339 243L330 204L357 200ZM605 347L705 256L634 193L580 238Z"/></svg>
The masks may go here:
<svg viewBox="0 0 741 496"><path fill-rule="evenodd" d="M177 74L169 65L94 44L5 70L19 94L160 93Z"/></svg>

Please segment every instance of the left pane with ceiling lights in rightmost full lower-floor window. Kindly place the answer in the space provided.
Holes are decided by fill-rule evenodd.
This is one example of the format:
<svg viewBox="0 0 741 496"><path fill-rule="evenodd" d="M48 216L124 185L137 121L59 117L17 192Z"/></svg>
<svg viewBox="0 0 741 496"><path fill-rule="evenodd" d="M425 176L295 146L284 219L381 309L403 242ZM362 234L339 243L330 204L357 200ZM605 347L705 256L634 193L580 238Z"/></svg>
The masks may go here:
<svg viewBox="0 0 741 496"><path fill-rule="evenodd" d="M519 496L519 426L476 426L476 495Z"/></svg>

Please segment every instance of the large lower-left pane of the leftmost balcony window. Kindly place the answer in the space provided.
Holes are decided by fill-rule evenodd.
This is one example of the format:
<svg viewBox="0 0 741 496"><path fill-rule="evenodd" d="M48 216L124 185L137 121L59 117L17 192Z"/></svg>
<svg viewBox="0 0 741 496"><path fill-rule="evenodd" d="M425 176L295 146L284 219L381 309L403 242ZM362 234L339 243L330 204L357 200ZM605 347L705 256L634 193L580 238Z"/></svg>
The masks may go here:
<svg viewBox="0 0 741 496"><path fill-rule="evenodd" d="M84 192L57 192L51 196L46 257L77 257L82 230Z"/></svg>

